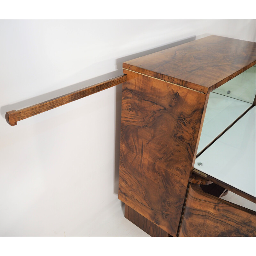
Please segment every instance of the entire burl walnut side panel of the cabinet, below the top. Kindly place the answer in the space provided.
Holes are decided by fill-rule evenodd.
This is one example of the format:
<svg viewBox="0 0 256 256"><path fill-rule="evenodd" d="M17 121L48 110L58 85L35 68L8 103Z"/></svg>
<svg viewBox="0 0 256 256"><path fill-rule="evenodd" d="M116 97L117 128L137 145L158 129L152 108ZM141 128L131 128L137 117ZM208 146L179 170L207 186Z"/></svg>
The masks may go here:
<svg viewBox="0 0 256 256"><path fill-rule="evenodd" d="M209 95L124 72L119 199L176 236Z"/></svg>

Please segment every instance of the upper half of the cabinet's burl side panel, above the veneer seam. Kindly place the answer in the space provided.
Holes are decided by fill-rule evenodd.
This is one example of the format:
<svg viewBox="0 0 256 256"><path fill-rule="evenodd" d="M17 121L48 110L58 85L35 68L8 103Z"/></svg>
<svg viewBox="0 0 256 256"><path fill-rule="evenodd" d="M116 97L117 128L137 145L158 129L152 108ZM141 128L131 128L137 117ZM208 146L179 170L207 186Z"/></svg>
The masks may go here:
<svg viewBox="0 0 256 256"><path fill-rule="evenodd" d="M121 146L188 181L209 95L125 73Z"/></svg>

